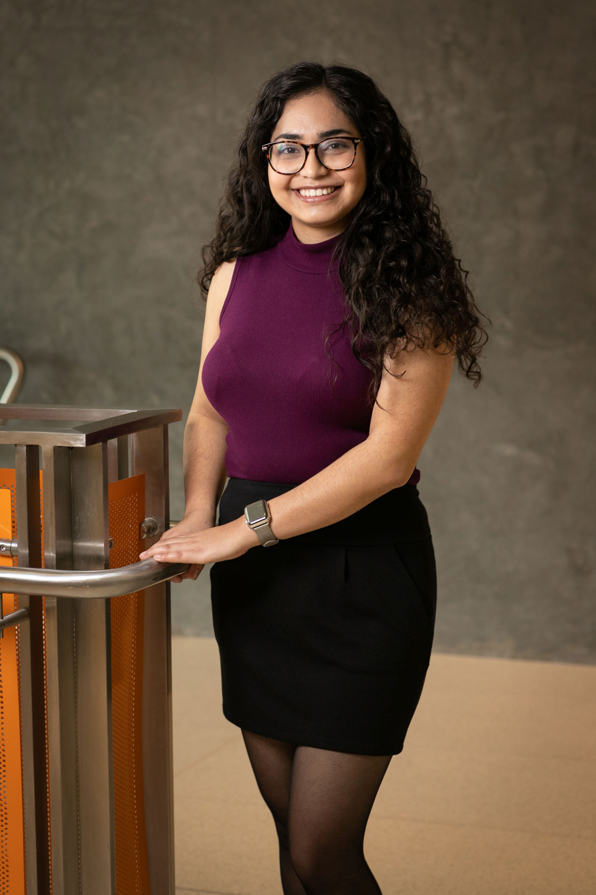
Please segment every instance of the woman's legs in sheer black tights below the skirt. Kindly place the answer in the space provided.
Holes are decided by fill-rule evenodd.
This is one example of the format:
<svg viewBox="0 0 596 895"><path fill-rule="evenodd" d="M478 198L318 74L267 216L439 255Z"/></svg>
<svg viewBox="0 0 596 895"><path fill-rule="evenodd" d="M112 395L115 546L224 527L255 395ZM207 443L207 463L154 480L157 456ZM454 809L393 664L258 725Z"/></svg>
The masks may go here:
<svg viewBox="0 0 596 895"><path fill-rule="evenodd" d="M280 842L284 895L382 895L365 827L390 755L296 746L242 730Z"/></svg>

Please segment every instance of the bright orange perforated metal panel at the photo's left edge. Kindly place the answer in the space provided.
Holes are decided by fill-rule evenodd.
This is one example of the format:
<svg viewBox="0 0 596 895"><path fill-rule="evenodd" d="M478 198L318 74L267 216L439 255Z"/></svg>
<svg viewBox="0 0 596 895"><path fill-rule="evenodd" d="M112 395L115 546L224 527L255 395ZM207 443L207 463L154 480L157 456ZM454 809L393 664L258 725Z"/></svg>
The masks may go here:
<svg viewBox="0 0 596 895"><path fill-rule="evenodd" d="M0 538L16 536L14 470L0 470ZM13 559L0 557L0 566ZM18 598L2 595L4 615L18 609ZM0 892L23 895L25 834L23 829L21 705L18 628L4 628L0 639Z"/></svg>

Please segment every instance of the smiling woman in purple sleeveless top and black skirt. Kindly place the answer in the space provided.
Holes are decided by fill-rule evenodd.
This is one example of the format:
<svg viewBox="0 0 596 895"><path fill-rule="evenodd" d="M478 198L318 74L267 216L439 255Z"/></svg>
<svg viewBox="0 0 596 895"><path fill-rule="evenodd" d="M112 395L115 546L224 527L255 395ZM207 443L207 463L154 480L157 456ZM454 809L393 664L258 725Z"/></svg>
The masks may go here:
<svg viewBox="0 0 596 895"><path fill-rule="evenodd" d="M424 182L362 72L264 85L204 250L185 516L141 554L188 562L178 581L214 563L223 712L285 895L380 892L365 825L430 660L416 461L455 359L480 383L486 333Z"/></svg>

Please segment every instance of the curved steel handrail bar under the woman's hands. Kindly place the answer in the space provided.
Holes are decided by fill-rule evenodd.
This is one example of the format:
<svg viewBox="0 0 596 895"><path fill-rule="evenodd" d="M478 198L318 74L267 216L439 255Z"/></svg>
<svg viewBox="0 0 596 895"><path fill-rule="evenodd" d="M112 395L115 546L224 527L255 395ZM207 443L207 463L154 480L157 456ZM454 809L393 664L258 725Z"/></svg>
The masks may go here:
<svg viewBox="0 0 596 895"><path fill-rule="evenodd" d="M143 559L122 568L79 572L55 568L0 568L0 591L43 597L121 597L188 572L188 563Z"/></svg>

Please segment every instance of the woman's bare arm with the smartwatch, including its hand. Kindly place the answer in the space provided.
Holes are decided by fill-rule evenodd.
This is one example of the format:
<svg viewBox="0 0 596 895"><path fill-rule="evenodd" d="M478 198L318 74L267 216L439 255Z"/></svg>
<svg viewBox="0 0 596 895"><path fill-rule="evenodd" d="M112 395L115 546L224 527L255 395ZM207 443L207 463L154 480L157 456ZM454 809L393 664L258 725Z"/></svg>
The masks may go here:
<svg viewBox="0 0 596 895"><path fill-rule="evenodd" d="M400 352L386 366L369 434L306 482L268 501L277 538L291 538L344 519L377 497L404 485L431 433L449 387L455 355L445 346ZM382 409L386 408L386 409ZM175 532L175 529L174 529ZM239 516L197 536L172 538L148 551L163 561L217 562L260 545Z"/></svg>

